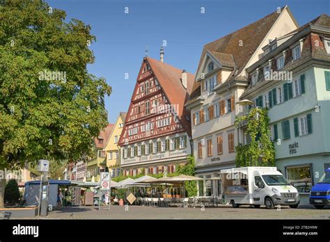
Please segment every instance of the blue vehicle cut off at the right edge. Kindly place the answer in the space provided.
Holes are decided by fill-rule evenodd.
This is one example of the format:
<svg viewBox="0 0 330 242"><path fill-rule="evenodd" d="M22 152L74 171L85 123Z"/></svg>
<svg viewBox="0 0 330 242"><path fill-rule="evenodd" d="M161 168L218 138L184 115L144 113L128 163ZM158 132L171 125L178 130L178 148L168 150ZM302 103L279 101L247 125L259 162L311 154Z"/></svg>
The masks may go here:
<svg viewBox="0 0 330 242"><path fill-rule="evenodd" d="M309 203L317 209L330 205L330 168L324 170L320 180L312 187Z"/></svg>

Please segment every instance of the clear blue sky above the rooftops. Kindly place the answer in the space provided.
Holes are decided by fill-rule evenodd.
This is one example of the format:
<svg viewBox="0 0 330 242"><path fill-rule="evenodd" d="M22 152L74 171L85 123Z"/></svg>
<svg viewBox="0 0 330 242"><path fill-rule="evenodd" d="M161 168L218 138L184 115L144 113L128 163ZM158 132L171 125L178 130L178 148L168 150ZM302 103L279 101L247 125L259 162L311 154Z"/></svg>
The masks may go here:
<svg viewBox="0 0 330 242"><path fill-rule="evenodd" d="M88 71L112 86L106 97L109 122L127 111L145 47L159 59L164 40L164 62L196 73L203 45L251 24L288 5L299 25L327 13L329 0L46 0L65 10L68 21L80 19L92 27L95 63ZM129 13L125 13L125 8ZM205 13L201 13L201 8ZM125 79L125 73L128 79Z"/></svg>

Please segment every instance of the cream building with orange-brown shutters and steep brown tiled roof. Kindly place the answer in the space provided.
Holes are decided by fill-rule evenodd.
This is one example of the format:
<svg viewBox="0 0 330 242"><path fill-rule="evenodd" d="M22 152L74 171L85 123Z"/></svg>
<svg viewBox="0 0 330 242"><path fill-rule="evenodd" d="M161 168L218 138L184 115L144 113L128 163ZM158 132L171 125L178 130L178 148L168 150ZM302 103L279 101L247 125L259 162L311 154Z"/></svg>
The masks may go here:
<svg viewBox="0 0 330 242"><path fill-rule="evenodd" d="M258 61L269 40L286 35L298 24L287 6L205 45L191 99L191 134L194 142L198 195L220 195L222 169L235 166L239 131L235 116L239 98L249 85L246 68Z"/></svg>

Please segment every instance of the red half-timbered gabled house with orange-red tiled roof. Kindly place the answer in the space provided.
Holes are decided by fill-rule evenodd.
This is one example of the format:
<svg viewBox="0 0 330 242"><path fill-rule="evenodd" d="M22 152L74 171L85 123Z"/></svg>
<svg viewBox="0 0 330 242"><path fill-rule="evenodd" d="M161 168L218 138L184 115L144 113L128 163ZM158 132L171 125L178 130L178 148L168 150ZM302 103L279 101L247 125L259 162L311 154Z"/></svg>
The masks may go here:
<svg viewBox="0 0 330 242"><path fill-rule="evenodd" d="M194 75L161 61L143 58L120 136L124 175L167 174L191 154L190 113L184 107Z"/></svg>

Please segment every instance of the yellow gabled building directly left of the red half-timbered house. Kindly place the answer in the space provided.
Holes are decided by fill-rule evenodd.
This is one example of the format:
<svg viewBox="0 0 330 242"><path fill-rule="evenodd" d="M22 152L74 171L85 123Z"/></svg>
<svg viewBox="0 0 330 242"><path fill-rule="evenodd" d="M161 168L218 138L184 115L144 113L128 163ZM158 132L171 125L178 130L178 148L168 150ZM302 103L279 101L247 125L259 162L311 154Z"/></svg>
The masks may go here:
<svg viewBox="0 0 330 242"><path fill-rule="evenodd" d="M125 118L126 113L120 112L104 147L105 152L107 152L107 167L109 168L111 177L118 177L120 175L120 147L118 146L118 140L121 131L123 131Z"/></svg>

